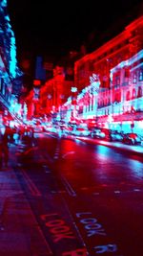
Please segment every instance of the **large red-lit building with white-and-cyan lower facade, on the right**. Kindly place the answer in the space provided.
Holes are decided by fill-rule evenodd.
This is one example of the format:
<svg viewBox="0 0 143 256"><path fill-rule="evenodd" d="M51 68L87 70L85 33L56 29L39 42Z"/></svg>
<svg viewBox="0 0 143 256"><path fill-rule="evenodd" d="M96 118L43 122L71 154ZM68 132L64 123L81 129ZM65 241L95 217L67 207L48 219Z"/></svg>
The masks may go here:
<svg viewBox="0 0 143 256"><path fill-rule="evenodd" d="M140 132L143 128L143 16L74 64L77 118L99 127ZM99 90L94 81L99 78ZM94 90L97 92L94 93ZM142 127L142 128L141 128Z"/></svg>

